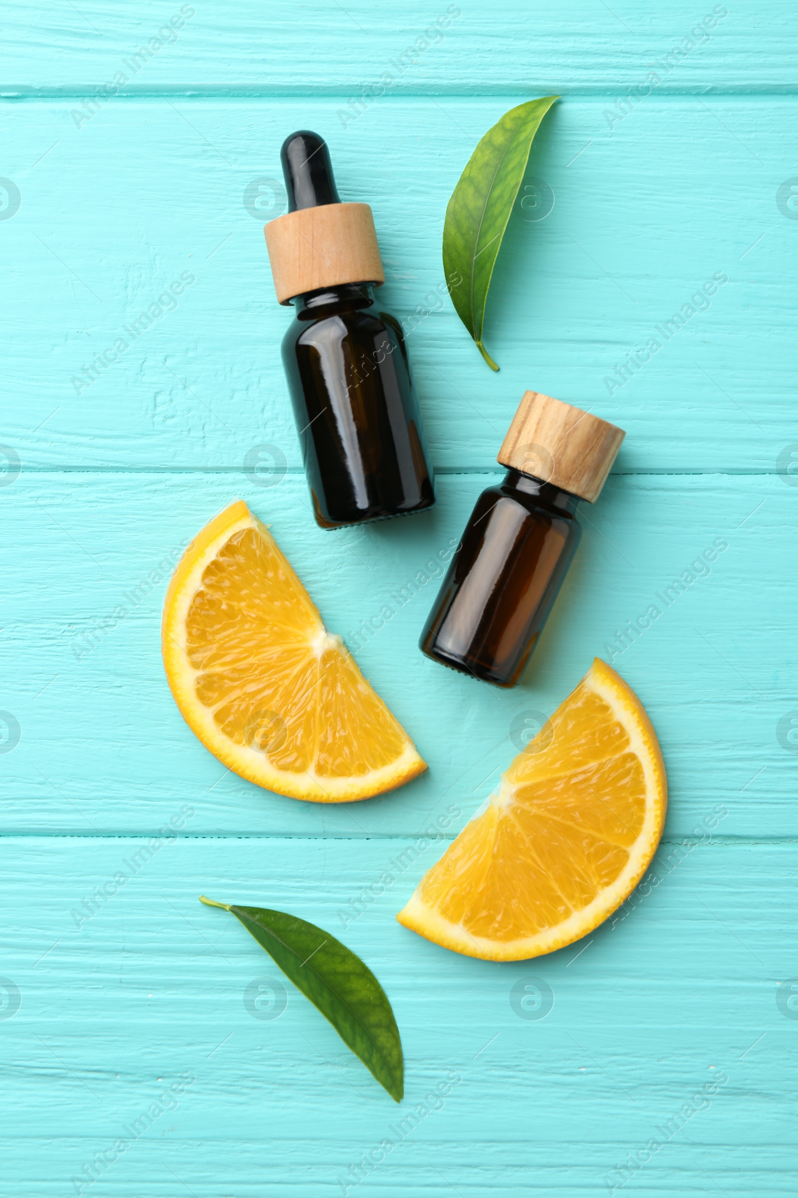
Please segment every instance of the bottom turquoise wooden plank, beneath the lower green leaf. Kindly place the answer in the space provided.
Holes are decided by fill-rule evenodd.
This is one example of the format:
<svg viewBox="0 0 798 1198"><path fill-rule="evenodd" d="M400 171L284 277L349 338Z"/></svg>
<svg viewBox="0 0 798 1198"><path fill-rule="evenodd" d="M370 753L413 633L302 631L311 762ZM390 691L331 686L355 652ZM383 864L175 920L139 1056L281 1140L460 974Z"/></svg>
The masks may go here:
<svg viewBox="0 0 798 1198"><path fill-rule="evenodd" d="M445 1181L586 1198L652 1140L629 1193L792 1192L798 1029L776 986L794 974L794 845L706 843L670 871L662 851L662 884L615 926L497 966L396 924L415 878L342 931L339 908L402 841L179 839L78 930L71 910L141 843L2 839L2 969L20 1006L0 1021L1 1194L74 1192L118 1139L84 1194L392 1198ZM402 1107L201 889L296 910L373 967L403 1039ZM538 1019L511 999L530 976L553 998ZM261 979L286 1000L276 1018L245 1006ZM397 1148L354 1185L384 1139Z"/></svg>

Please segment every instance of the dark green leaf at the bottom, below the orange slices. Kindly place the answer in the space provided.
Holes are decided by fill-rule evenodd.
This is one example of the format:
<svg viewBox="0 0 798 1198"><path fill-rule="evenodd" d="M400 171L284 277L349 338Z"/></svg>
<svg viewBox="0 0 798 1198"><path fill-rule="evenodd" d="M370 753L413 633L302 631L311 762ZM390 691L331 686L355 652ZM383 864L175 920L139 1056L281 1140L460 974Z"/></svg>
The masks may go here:
<svg viewBox="0 0 798 1198"><path fill-rule="evenodd" d="M286 912L227 906L205 895L200 902L232 912L390 1096L402 1099L404 1065L394 1011L360 957L329 932Z"/></svg>

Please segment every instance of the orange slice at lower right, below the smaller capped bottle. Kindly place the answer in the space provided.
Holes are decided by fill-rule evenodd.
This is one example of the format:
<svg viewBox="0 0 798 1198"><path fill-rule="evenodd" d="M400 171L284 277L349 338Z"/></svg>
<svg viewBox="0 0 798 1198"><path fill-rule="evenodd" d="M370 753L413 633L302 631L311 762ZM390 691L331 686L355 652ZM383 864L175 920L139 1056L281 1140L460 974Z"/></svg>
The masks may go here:
<svg viewBox="0 0 798 1198"><path fill-rule="evenodd" d="M651 721L596 658L396 918L470 957L553 952L629 896L665 806Z"/></svg>

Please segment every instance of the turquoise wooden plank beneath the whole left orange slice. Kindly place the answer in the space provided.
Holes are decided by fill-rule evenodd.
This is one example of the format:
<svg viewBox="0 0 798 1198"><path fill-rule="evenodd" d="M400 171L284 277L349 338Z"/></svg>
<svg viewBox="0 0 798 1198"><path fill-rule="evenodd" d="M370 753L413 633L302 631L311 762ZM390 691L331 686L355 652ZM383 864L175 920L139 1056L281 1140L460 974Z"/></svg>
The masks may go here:
<svg viewBox="0 0 798 1198"><path fill-rule="evenodd" d="M328 532L298 474L270 488L226 473L22 474L0 491L0 708L22 728L0 757L4 829L147 833L183 803L194 833L418 836L450 804L459 828L520 749L517 721L542 721L599 655L659 733L669 835L692 835L718 803L724 835L794 835L798 760L778 728L796 707L798 490L773 474L611 478L526 678L499 691L416 647L440 555L499 477L443 476L428 514ZM428 774L367 803L298 803L227 774L183 724L160 660L163 594L182 546L236 495L270 524ZM698 576L718 540L727 549ZM675 580L683 592L666 593ZM120 605L129 615L105 624ZM629 634L651 605L662 616Z"/></svg>

